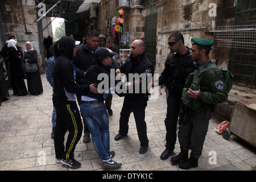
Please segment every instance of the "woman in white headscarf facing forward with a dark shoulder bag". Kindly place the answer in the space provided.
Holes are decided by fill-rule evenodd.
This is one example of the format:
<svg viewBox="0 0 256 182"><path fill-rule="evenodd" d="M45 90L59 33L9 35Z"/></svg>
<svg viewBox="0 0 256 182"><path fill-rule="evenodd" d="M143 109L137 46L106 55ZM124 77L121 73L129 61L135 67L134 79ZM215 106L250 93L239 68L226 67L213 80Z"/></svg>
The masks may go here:
<svg viewBox="0 0 256 182"><path fill-rule="evenodd" d="M35 63L38 67L38 52L33 49L32 44L30 42L26 42L26 51L24 52L23 60L28 63ZM39 94L43 93L43 85L42 80L38 71L34 73L27 73L27 88L28 93L38 96Z"/></svg>

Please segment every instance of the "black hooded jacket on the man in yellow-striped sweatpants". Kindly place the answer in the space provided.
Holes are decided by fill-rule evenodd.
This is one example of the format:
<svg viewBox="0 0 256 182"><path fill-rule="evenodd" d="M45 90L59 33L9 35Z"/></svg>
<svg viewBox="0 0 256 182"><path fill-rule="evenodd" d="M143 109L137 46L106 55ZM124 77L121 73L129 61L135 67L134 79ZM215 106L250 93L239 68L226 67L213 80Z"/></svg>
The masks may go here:
<svg viewBox="0 0 256 182"><path fill-rule="evenodd" d="M53 99L76 102L75 93L90 92L89 85L79 85L75 82L75 72L71 63L75 39L63 37L59 40L60 55L55 60L53 74Z"/></svg>

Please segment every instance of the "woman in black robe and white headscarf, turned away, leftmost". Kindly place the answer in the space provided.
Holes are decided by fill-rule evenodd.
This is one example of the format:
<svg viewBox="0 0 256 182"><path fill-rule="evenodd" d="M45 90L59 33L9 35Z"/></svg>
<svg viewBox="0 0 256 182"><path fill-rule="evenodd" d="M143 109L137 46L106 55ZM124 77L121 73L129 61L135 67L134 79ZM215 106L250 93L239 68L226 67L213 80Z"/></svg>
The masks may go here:
<svg viewBox="0 0 256 182"><path fill-rule="evenodd" d="M26 96L27 88L23 80L23 70L21 68L22 60L19 59L19 53L16 48L16 40L7 41L11 85L13 86L14 96Z"/></svg>

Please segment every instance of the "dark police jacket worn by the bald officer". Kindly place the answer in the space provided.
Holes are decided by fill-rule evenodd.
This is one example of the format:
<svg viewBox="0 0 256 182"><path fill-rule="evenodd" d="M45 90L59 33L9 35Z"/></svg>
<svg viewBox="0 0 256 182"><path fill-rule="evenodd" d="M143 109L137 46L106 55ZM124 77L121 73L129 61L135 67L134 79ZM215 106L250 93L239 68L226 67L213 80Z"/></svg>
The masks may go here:
<svg viewBox="0 0 256 182"><path fill-rule="evenodd" d="M129 80L129 73L138 73L139 75L141 73L145 73L146 74L146 83L150 83L151 80L148 80L148 73L151 73L152 76L154 75L155 72L155 68L154 66L151 64L150 60L148 60L148 58L145 55L145 52L142 53L142 55L140 55L137 58L131 57L131 55L126 59L125 64L121 65L120 68L121 73L125 73L126 77L127 77L127 81L131 82L134 86L133 88L135 88L135 84L139 84L139 93L134 93L135 90L133 90L133 93L126 93L124 94L125 97L130 97L130 98L141 98L142 100L148 100L148 95L150 95L147 92L147 88L146 88L146 93L142 93L142 82L138 83L138 80ZM148 86L148 85L146 85Z"/></svg>

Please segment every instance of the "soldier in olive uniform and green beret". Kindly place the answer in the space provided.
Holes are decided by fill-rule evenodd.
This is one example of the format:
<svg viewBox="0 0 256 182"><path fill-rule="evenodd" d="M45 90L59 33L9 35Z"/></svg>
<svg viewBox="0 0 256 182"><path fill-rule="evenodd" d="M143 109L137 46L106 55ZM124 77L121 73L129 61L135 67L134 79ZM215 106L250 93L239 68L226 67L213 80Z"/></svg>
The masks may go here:
<svg viewBox="0 0 256 182"><path fill-rule="evenodd" d="M178 138L181 152L171 158L181 169L198 166L202 154L205 135L214 105L228 98L222 71L212 63L208 54L213 45L212 40L192 39L192 60L197 61L196 69L188 76L186 88L183 89L183 114ZM191 156L188 159L188 150Z"/></svg>

